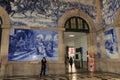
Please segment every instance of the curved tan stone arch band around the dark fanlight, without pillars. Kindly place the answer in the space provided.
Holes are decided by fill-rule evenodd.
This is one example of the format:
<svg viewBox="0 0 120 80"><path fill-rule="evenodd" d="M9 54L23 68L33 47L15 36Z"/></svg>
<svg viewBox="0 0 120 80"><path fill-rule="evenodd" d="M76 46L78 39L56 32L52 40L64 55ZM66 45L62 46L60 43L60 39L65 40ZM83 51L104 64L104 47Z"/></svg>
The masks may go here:
<svg viewBox="0 0 120 80"><path fill-rule="evenodd" d="M90 26L90 32L96 31L93 19L90 18L85 12L83 12L79 9L74 9L74 10L70 10L70 11L65 12L62 15L62 17L59 19L58 26L64 27L66 20L68 20L70 17L73 17L73 16L81 17L84 20L86 20Z"/></svg>

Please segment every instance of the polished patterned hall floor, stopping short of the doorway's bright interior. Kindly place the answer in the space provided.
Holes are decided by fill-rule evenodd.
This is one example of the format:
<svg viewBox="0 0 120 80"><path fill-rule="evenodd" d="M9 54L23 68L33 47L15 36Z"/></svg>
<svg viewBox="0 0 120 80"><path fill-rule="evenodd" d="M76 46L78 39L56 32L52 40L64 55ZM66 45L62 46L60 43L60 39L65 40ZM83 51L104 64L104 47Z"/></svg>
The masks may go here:
<svg viewBox="0 0 120 80"><path fill-rule="evenodd" d="M120 75L108 73L74 73L74 74L58 74L39 76L19 76L19 77L6 77L0 80L120 80Z"/></svg>

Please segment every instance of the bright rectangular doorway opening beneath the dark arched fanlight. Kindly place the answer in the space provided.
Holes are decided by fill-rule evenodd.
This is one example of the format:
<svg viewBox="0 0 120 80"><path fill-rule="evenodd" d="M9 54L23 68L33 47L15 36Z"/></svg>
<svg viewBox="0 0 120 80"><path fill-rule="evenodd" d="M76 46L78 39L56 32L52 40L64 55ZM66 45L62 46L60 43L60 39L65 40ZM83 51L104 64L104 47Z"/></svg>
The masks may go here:
<svg viewBox="0 0 120 80"><path fill-rule="evenodd" d="M80 69L88 70L87 34L64 32L64 44L66 47L65 62L68 72L78 72ZM68 61L70 57L73 59L72 69Z"/></svg>

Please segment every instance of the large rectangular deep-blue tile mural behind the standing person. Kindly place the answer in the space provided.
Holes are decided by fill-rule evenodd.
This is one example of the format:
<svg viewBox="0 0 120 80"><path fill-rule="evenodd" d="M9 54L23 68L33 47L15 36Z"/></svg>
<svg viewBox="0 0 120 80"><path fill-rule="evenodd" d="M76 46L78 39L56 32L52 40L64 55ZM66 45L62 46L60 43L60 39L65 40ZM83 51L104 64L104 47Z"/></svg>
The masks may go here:
<svg viewBox="0 0 120 80"><path fill-rule="evenodd" d="M11 29L9 61L58 60L58 32Z"/></svg>

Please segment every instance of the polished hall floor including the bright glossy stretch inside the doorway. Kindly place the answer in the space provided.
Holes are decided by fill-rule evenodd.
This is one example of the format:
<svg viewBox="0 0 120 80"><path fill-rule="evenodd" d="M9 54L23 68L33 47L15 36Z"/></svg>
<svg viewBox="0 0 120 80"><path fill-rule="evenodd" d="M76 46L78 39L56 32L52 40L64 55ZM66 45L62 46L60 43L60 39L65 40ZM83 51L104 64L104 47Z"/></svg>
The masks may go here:
<svg viewBox="0 0 120 80"><path fill-rule="evenodd" d="M83 69L66 69L66 74L47 74L45 76L14 76L14 77L1 77L0 80L120 80L120 75L101 73L101 72L88 72Z"/></svg>

